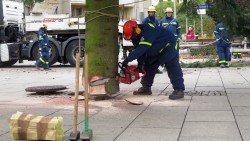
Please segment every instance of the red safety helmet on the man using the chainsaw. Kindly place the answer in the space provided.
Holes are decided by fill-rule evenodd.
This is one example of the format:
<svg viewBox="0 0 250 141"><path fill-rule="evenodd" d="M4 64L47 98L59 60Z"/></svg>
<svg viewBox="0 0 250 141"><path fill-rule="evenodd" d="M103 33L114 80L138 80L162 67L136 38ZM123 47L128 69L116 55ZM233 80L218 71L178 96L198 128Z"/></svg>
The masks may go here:
<svg viewBox="0 0 250 141"><path fill-rule="evenodd" d="M123 33L124 33L124 39L125 40L130 40L134 29L138 27L138 24L136 21L128 20L124 26L123 26Z"/></svg>

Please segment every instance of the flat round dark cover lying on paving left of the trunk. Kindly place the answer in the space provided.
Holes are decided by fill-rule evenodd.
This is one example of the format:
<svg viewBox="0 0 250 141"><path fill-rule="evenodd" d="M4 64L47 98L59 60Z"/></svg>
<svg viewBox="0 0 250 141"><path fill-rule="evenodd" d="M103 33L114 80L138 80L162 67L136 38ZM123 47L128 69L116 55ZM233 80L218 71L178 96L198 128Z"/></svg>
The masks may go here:
<svg viewBox="0 0 250 141"><path fill-rule="evenodd" d="M36 93L49 93L49 92L56 92L60 90L67 89L66 86L63 85L53 85L53 86L35 86L35 87L28 87L25 89L26 92L36 92Z"/></svg>

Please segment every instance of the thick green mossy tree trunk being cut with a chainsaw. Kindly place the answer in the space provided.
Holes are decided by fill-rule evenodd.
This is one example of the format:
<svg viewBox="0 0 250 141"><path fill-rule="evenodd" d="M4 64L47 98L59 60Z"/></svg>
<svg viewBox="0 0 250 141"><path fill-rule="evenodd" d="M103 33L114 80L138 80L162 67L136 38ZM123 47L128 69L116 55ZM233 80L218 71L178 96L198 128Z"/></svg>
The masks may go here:
<svg viewBox="0 0 250 141"><path fill-rule="evenodd" d="M89 78L101 75L111 78L105 84L107 94L119 91L118 70L118 0L86 0L86 41ZM101 9L101 10L99 10ZM97 11L94 12L93 11ZM109 15L103 15L109 14Z"/></svg>

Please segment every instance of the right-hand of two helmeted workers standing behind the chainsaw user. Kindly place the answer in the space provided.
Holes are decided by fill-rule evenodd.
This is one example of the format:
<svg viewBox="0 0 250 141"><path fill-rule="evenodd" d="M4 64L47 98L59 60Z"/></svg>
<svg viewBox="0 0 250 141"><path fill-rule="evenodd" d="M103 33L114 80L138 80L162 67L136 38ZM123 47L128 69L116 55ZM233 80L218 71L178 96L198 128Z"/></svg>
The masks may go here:
<svg viewBox="0 0 250 141"><path fill-rule="evenodd" d="M174 34L175 39L179 42L182 40L181 26L179 21L173 17L173 9L167 7L165 10L166 17L160 20L160 26L166 28L168 31ZM179 48L179 45L178 45Z"/></svg>

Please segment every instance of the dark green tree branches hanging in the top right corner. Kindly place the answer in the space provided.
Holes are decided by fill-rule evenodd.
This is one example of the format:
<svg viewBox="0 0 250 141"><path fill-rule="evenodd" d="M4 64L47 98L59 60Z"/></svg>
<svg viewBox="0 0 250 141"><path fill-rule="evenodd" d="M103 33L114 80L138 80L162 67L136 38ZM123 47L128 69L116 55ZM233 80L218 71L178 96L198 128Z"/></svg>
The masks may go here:
<svg viewBox="0 0 250 141"><path fill-rule="evenodd" d="M183 9L187 8L190 2L183 1ZM223 22L229 27L232 35L250 37L250 1L249 0L206 0L211 6L208 15L219 23Z"/></svg>

